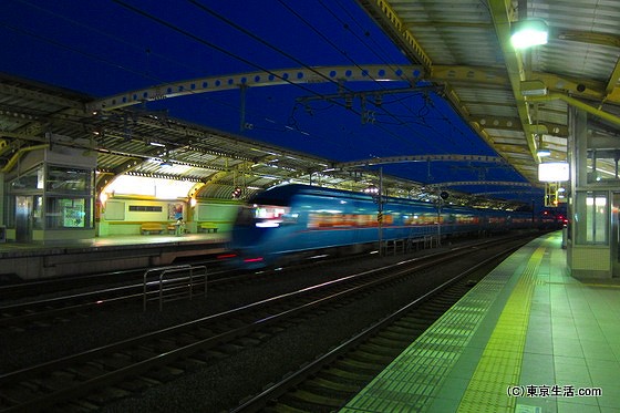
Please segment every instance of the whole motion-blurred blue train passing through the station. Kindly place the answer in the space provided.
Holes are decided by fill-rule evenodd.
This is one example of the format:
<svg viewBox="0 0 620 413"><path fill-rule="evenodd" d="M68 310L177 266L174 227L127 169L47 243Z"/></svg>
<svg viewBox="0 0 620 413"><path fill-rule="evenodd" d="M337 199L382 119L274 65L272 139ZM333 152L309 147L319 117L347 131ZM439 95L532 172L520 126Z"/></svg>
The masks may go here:
<svg viewBox="0 0 620 413"><path fill-rule="evenodd" d="M549 217L550 218L550 217ZM324 254L354 254L382 240L453 237L531 228L533 214L383 197L382 223L372 196L307 185L265 190L241 207L232 227L229 261L238 267L286 265ZM437 225L437 224L441 225ZM380 229L381 227L381 229Z"/></svg>

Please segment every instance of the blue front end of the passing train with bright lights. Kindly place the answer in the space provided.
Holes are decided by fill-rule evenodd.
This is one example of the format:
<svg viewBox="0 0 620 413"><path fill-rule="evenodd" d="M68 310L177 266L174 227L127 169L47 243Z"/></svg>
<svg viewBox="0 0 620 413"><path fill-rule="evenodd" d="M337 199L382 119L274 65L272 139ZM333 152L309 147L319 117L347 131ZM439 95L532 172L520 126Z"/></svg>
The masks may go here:
<svg viewBox="0 0 620 413"><path fill-rule="evenodd" d="M241 206L230 235L229 262L237 268L256 269L272 265L281 251L290 206L257 198Z"/></svg>

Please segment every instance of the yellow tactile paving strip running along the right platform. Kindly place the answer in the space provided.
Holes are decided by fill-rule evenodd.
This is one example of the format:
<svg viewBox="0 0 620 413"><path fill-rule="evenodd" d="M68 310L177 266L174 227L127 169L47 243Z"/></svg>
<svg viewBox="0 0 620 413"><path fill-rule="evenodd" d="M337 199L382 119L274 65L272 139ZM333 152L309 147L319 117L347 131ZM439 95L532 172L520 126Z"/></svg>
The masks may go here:
<svg viewBox="0 0 620 413"><path fill-rule="evenodd" d="M516 397L508 388L517 385L529 321L531 291L545 247L531 255L508 298L488 344L463 395L458 412L514 412Z"/></svg>

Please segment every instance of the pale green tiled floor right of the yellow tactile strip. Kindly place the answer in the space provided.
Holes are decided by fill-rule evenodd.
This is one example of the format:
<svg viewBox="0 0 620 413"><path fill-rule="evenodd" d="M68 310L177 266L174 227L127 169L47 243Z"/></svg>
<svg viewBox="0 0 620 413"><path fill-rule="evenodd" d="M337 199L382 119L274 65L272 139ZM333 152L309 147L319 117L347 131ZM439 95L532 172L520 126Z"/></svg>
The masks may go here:
<svg viewBox="0 0 620 413"><path fill-rule="evenodd" d="M620 412L620 358L613 351L620 342L618 280L570 277L560 248L550 249L538 277L544 282L534 295L539 306L533 306L519 381L537 394L519 397L518 406L545 413ZM547 389L558 395L540 395ZM580 389L602 395L579 396Z"/></svg>

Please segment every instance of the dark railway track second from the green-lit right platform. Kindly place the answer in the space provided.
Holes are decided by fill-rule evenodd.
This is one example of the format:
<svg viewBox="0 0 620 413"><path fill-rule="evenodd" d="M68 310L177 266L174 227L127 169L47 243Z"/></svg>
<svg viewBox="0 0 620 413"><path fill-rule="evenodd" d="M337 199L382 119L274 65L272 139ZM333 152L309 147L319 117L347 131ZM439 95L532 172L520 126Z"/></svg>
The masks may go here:
<svg viewBox="0 0 620 413"><path fill-rule="evenodd" d="M451 251L465 256L472 249ZM0 375L2 411L89 410L227 357L287 323L397 282L446 255L350 275L60 360ZM93 393L94 389L100 391ZM94 395L93 395L94 394Z"/></svg>

